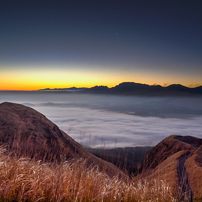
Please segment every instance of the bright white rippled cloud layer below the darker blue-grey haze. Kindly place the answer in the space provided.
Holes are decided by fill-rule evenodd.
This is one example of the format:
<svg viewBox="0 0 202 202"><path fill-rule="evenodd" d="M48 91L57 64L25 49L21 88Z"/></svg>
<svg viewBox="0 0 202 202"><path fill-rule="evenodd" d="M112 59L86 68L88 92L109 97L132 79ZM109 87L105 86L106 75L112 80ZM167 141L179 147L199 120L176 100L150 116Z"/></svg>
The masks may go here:
<svg viewBox="0 0 202 202"><path fill-rule="evenodd" d="M35 108L84 146L154 146L172 134L202 138L201 116L158 118L85 108Z"/></svg>

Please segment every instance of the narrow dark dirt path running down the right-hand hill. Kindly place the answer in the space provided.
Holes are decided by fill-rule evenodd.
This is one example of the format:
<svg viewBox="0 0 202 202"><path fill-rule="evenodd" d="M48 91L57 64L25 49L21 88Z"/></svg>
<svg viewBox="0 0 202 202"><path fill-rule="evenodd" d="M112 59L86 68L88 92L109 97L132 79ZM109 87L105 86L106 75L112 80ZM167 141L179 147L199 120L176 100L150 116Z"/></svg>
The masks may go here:
<svg viewBox="0 0 202 202"><path fill-rule="evenodd" d="M193 192L191 190L186 168L184 166L184 163L188 157L189 157L189 154L183 156L179 160L179 168L178 168L179 179L180 179L179 180L180 196L181 196L181 200L183 201L193 201Z"/></svg>

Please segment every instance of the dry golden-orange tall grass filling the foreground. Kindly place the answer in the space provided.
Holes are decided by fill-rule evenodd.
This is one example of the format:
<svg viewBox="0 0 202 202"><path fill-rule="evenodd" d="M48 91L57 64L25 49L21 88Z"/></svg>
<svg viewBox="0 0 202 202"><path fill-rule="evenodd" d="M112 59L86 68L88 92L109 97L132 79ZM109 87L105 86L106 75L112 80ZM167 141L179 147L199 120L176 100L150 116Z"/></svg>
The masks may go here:
<svg viewBox="0 0 202 202"><path fill-rule="evenodd" d="M164 181L110 178L83 159L60 164L11 157L0 148L0 201L171 201Z"/></svg>

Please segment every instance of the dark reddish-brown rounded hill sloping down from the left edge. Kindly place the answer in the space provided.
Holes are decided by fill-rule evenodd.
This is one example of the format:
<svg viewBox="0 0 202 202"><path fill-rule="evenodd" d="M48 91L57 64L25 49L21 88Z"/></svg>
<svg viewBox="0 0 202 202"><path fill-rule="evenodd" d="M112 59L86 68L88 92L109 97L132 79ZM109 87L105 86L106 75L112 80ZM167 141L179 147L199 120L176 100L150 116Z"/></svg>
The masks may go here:
<svg viewBox="0 0 202 202"><path fill-rule="evenodd" d="M82 157L110 176L122 175L116 166L84 150L43 114L19 104L0 104L0 145L6 145L14 155L49 162Z"/></svg>

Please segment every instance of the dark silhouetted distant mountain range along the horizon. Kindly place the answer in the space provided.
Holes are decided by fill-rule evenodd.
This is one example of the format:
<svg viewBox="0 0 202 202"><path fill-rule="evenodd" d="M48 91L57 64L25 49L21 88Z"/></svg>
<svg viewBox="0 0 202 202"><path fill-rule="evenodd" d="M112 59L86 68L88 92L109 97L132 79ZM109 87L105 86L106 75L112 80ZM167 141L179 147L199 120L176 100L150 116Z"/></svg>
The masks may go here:
<svg viewBox="0 0 202 202"><path fill-rule="evenodd" d="M95 94L121 94L121 95L141 95L141 96L191 96L202 95L202 86L189 88L181 84L172 84L167 87L160 85L147 85L134 82L123 82L115 87L94 86L92 88L46 88L40 91L69 91Z"/></svg>

